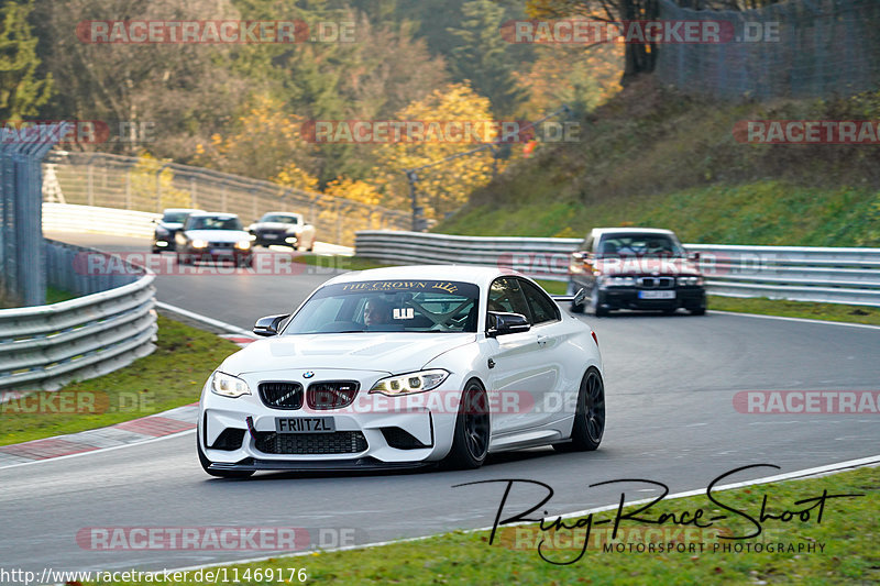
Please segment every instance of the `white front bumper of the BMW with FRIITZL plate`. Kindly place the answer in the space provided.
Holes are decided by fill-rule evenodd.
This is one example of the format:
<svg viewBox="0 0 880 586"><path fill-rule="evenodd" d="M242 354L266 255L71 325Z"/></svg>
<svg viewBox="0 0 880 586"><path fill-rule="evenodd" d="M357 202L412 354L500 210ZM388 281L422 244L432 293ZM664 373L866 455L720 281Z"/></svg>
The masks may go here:
<svg viewBox="0 0 880 586"><path fill-rule="evenodd" d="M217 469L395 468L441 460L452 445L454 396L461 382L450 376L435 390L405 397L370 394L384 376L387 373L342 369L316 371L310 379L302 378L301 369L242 375L252 394L235 399L211 392L209 379L199 403L201 450ZM301 408L265 405L260 383L279 380L302 385ZM354 402L336 409L310 407L309 386L328 380L356 380ZM336 431L276 433L277 418L300 417L332 417Z"/></svg>

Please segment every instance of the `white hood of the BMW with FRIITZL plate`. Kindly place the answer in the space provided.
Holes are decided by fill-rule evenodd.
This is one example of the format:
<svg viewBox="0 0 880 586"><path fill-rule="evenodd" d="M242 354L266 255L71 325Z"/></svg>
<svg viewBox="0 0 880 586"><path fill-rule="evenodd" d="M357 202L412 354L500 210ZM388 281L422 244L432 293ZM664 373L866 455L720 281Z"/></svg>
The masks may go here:
<svg viewBox="0 0 880 586"><path fill-rule="evenodd" d="M474 342L473 333L297 334L251 343L220 369L231 375L290 368L337 368L399 374Z"/></svg>

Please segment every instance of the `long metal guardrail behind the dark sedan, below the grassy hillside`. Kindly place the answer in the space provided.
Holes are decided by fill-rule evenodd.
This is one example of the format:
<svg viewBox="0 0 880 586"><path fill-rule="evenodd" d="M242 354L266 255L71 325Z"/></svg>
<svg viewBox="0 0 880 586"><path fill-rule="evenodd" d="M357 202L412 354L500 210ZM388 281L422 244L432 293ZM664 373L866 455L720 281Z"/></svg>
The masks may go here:
<svg viewBox="0 0 880 586"><path fill-rule="evenodd" d="M570 254L580 242L362 231L356 234L355 254L395 264L499 266L565 281ZM880 248L684 246L700 253L700 266L713 295L880 307Z"/></svg>

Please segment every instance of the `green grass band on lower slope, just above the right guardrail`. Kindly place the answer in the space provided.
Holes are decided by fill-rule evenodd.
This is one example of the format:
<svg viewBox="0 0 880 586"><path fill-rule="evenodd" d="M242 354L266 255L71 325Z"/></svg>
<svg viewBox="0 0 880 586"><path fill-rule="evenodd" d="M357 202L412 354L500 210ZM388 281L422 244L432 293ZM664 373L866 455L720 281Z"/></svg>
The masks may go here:
<svg viewBox="0 0 880 586"><path fill-rule="evenodd" d="M438 231L583 237L592 228L620 225L670 229L689 243L880 246L880 192L867 187L805 188L778 180L721 184L587 204L544 199L510 208L474 206Z"/></svg>

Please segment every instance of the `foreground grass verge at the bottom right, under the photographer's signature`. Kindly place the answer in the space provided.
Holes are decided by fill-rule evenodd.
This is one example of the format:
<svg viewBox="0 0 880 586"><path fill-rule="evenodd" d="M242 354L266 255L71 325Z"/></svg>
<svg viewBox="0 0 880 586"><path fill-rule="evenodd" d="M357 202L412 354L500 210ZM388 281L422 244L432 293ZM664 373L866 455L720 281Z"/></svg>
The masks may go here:
<svg viewBox="0 0 880 586"><path fill-rule="evenodd" d="M768 473L770 474L770 473ZM660 479L660 478L658 478ZM626 488L626 487L624 487ZM501 498L499 485L498 498ZM622 488L623 489L623 488ZM458 490L463 490L459 488ZM669 533L666 539L651 539L647 526L636 521L623 521L623 533L618 541L638 548L646 541L680 540L691 551L663 553L606 552L596 545L597 535L607 538L608 526L594 526L592 538L583 559L570 565L552 565L539 557L536 550L541 537L548 544L563 545L561 549L543 550L548 559L557 562L574 560L583 543L584 530L560 531L542 534L535 526L499 530L495 542L488 544L488 532L454 532L408 543L395 543L378 548L346 552L322 552L293 557L277 557L266 562L228 566L228 575L238 570L244 572L260 568L284 572L288 568L306 568L308 584L486 584L486 585L564 585L564 584L877 584L880 581L880 468L861 468L821 478L790 480L746 487L713 495L725 505L758 517L761 500L768 497L767 511L780 515L783 510L799 511L809 505L795 506L800 499L809 499L827 490L829 495L862 494L859 498L829 499L825 504L822 522L816 522L816 510L806 522L795 520L783 523L767 520L763 533L747 540L752 546L761 543L813 543L814 552L725 552L718 540L717 529L724 534L744 535L752 531L747 520L728 513L728 519L716 521L714 529L700 531L695 528L678 531L670 523L662 526ZM627 495L634 500L637 497ZM552 502L552 501L551 501ZM550 506L552 509L552 505ZM642 513L656 520L660 513L684 511L692 515L700 508L705 510L704 520L719 515L717 506L705 495L686 499L667 500ZM626 509L631 511L632 508ZM552 513L552 511L551 511ZM614 519L614 511L596 513L593 522ZM795 518L796 519L796 518ZM574 519L566 520L571 527ZM636 531L634 531L636 529ZM653 533L654 535L657 533ZM568 549L564 545L572 542ZM607 541L606 541L607 542ZM701 552L701 543L703 544ZM717 550L715 543L718 544ZM818 549L824 545L824 550ZM234 568L234 570L233 570ZM190 575L191 578L191 575ZM150 584L155 582L125 582L118 584ZM164 584L161 579L160 584ZM190 582L194 583L194 582ZM260 584L257 581L240 581L239 584ZM293 584L298 584L294 579ZM97 584L97 583L88 583Z"/></svg>

